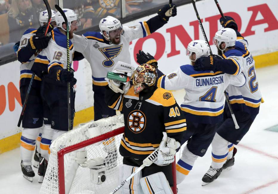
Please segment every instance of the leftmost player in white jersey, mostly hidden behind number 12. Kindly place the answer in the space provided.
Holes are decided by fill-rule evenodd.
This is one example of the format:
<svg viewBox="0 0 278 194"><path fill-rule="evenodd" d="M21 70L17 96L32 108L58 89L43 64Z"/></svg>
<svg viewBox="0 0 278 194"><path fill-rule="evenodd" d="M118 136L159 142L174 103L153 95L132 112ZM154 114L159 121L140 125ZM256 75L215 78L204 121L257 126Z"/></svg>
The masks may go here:
<svg viewBox="0 0 278 194"><path fill-rule="evenodd" d="M52 10L53 19L55 18L55 13L56 12ZM33 66L34 60L36 56L38 56L39 50L47 47L51 38L50 36L44 36L44 31L46 30L46 26L44 25L47 24L47 19L48 13L47 10L45 10L41 12L39 18L41 27L38 28L38 30L26 30L20 40L17 57L18 61L22 63L20 65L20 95L22 104L28 90L30 78L33 74L31 67ZM49 31L51 31L51 29L52 26L50 26ZM47 123L47 120L44 120L44 117L47 116L43 112L43 102L40 95L40 88L41 78L35 75L28 98L28 104L22 119L23 130L20 138L21 170L23 176L31 182L33 181L33 176L35 176L31 167L33 151L36 147L34 155L36 164L34 164L34 167L38 168L43 124L50 124Z"/></svg>

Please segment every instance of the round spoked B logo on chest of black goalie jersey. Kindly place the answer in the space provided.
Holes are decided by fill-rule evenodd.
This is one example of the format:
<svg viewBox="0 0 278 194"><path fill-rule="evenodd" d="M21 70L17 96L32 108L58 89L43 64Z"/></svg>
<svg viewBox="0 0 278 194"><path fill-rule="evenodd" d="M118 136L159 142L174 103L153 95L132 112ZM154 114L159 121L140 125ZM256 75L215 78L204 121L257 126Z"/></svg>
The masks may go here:
<svg viewBox="0 0 278 194"><path fill-rule="evenodd" d="M135 110L129 113L128 128L133 133L141 133L146 127L146 116L142 111Z"/></svg>

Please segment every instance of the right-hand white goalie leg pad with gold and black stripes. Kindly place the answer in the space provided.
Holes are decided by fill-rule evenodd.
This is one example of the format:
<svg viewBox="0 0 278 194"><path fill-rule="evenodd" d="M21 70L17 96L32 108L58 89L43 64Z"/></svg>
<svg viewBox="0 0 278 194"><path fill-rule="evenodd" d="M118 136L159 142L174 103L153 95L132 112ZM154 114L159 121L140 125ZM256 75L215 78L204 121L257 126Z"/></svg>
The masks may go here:
<svg viewBox="0 0 278 194"><path fill-rule="evenodd" d="M172 189L163 172L151 174L140 179L144 194L172 194Z"/></svg>

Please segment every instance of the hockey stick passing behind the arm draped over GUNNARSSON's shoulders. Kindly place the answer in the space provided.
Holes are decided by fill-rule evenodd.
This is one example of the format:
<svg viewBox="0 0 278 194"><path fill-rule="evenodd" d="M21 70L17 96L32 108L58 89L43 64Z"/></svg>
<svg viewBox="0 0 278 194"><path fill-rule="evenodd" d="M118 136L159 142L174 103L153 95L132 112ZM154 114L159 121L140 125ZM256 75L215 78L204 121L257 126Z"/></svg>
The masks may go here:
<svg viewBox="0 0 278 194"><path fill-rule="evenodd" d="M200 19L200 16L199 16L198 11L197 11L197 8L196 8L196 4L195 4L196 0L191 0L191 1L192 1L194 10L195 10L197 19L198 19L198 21L199 21L199 24L200 24L200 27L201 27L203 36L204 36L206 42L207 42L208 45L209 45L208 38L207 38L207 36L206 36L206 33L205 33L205 30L204 30L202 21L201 21L201 19ZM209 53L210 53L211 56L213 55L213 54L212 54L212 51L211 51L211 48L210 48L210 45L209 45ZM235 126L236 129L239 129L240 127L239 127L238 124L237 124L237 119L236 119L236 117L234 116L234 111L233 111L233 109L232 109L232 107L231 107L231 104L230 104L230 102L229 102L229 98L228 98L228 95L227 95L226 91L224 92L224 96L225 96L226 102L227 102L227 104L228 104L228 108L229 108L229 110L230 110L230 112L231 112L231 116L232 116L232 119L233 119L233 121L234 121L234 126Z"/></svg>

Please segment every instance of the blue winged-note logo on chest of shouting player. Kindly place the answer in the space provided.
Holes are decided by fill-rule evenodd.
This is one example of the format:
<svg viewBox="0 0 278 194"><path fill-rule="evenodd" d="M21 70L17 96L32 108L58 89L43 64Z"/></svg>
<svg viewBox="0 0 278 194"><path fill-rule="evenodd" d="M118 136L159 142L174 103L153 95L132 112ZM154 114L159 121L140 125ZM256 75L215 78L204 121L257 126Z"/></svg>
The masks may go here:
<svg viewBox="0 0 278 194"><path fill-rule="evenodd" d="M112 67L114 65L114 59L116 56L118 56L123 48L123 44L106 47L106 48L99 48L98 50L101 51L101 53L105 56L106 60L102 62L104 67Z"/></svg>

